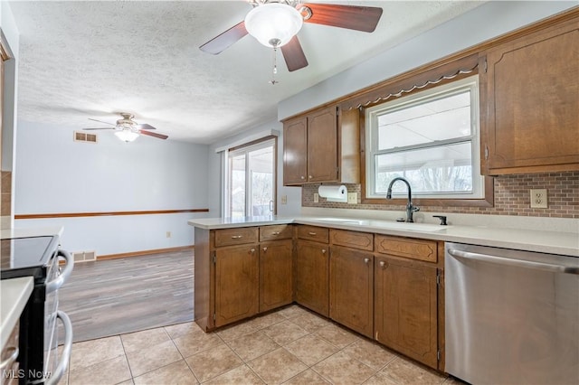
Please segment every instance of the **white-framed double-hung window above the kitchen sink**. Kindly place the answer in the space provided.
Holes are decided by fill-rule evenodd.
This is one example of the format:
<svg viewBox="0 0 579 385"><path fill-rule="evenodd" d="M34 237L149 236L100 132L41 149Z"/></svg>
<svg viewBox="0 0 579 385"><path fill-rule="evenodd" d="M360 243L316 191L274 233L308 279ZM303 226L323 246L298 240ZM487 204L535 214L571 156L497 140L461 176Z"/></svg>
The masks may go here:
<svg viewBox="0 0 579 385"><path fill-rule="evenodd" d="M484 198L478 98L475 76L368 108L365 198L384 198L397 176L418 198ZM395 183L393 195L405 194Z"/></svg>

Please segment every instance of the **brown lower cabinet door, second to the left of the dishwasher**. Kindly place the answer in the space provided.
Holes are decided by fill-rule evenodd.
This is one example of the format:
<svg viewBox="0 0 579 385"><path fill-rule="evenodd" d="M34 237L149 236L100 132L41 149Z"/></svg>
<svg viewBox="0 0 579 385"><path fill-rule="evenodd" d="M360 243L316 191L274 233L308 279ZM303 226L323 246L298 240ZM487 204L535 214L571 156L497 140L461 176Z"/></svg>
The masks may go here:
<svg viewBox="0 0 579 385"><path fill-rule="evenodd" d="M329 261L329 317L372 338L374 256L332 247Z"/></svg>

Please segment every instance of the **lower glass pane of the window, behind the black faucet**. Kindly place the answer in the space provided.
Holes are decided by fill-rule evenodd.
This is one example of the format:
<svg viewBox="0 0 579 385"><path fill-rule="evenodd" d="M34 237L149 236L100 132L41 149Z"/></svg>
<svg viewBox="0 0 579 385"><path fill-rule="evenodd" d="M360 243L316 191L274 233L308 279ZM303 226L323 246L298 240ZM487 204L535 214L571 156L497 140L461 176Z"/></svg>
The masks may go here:
<svg viewBox="0 0 579 385"><path fill-rule="evenodd" d="M413 193L472 192L471 143L437 146L395 154L375 155L375 192L386 193L388 184L403 176ZM393 193L407 193L404 183L394 183Z"/></svg>

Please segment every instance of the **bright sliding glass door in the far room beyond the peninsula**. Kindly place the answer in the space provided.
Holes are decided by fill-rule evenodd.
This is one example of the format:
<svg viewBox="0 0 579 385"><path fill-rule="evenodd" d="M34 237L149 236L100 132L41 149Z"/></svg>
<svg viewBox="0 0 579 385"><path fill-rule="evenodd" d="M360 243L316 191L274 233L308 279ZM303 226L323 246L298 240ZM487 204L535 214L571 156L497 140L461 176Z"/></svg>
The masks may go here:
<svg viewBox="0 0 579 385"><path fill-rule="evenodd" d="M276 139L228 152L226 217L271 215L275 211Z"/></svg>

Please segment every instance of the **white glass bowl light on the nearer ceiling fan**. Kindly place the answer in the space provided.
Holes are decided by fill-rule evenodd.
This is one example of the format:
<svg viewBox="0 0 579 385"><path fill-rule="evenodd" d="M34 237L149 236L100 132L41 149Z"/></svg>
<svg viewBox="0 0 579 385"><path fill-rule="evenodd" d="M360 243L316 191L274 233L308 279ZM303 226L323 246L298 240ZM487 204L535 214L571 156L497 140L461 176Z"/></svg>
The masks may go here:
<svg viewBox="0 0 579 385"><path fill-rule="evenodd" d="M245 28L266 47L281 47L299 33L303 16L291 5L269 3L254 7L245 16Z"/></svg>

